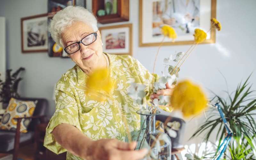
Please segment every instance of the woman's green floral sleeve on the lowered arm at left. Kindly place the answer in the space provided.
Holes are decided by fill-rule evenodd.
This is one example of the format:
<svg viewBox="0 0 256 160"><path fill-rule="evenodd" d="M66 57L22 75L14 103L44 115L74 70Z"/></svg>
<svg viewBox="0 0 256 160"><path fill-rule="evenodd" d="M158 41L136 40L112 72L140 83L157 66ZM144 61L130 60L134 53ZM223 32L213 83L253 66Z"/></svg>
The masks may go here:
<svg viewBox="0 0 256 160"><path fill-rule="evenodd" d="M72 89L72 82L67 77L63 77L56 84L55 97L56 97L56 111L53 114L45 133L44 147L48 148L56 154L66 152L67 150L60 146L55 141L52 135L53 129L59 124L66 123L75 126L81 130L79 124L78 106L76 103L76 97Z"/></svg>

